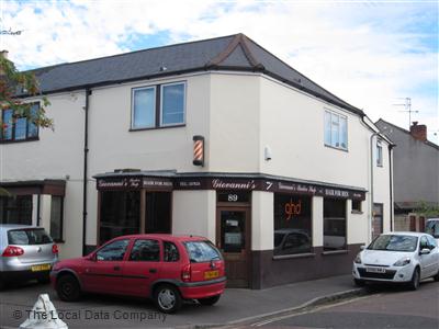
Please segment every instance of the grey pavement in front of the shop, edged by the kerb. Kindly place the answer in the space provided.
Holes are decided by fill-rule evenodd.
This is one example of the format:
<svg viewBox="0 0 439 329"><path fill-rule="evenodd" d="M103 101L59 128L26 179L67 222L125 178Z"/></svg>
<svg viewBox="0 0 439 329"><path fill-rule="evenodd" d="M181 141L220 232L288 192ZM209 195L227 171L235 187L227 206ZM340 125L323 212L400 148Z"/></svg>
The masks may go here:
<svg viewBox="0 0 439 329"><path fill-rule="evenodd" d="M205 328L236 326L281 315L309 305L362 294L351 275L331 276L266 290L227 288L212 307L183 305L175 315L158 313L144 299L88 295L79 303L58 299L49 285L27 284L0 292L0 328L16 328L26 318L38 294L48 293L58 317L69 328Z"/></svg>

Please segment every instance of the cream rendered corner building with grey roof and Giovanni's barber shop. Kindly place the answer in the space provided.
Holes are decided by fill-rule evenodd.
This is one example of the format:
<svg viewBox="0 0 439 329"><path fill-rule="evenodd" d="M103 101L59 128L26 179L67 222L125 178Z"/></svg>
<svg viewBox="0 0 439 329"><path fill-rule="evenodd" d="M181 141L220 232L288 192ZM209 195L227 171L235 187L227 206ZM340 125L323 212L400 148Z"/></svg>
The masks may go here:
<svg viewBox="0 0 439 329"><path fill-rule="evenodd" d="M392 229L391 141L245 35L35 73L55 131L3 132L0 219L45 227L63 258L122 234L202 235L232 285L261 288L349 273Z"/></svg>

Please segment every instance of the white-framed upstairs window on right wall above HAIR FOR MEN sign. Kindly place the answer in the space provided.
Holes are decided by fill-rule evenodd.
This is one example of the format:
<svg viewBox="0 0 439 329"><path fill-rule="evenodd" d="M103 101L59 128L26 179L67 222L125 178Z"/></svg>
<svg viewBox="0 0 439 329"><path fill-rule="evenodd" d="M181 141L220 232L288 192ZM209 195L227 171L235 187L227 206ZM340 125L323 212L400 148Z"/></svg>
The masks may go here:
<svg viewBox="0 0 439 329"><path fill-rule="evenodd" d="M325 145L348 149L348 122L345 115L325 111Z"/></svg>

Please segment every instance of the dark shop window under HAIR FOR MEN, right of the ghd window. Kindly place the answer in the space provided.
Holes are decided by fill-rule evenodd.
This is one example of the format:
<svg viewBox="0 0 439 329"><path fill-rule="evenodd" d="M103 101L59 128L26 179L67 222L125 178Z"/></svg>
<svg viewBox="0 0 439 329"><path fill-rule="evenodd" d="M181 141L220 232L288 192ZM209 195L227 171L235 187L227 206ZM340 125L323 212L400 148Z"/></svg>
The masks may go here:
<svg viewBox="0 0 439 329"><path fill-rule="evenodd" d="M325 198L323 249L345 250L346 242L346 201Z"/></svg>

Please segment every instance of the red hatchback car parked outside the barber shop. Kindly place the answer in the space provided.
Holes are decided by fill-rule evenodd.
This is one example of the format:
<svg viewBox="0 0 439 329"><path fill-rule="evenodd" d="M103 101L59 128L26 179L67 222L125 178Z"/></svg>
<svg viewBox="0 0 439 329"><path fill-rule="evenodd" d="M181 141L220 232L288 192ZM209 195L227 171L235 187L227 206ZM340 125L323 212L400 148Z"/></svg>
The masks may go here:
<svg viewBox="0 0 439 329"><path fill-rule="evenodd" d="M57 262L50 280L63 300L82 292L149 297L164 313L183 299L213 305L226 285L223 257L211 241L171 235L117 237L89 256Z"/></svg>

